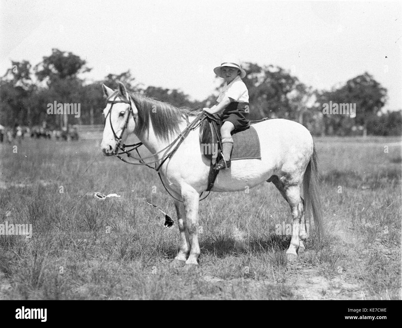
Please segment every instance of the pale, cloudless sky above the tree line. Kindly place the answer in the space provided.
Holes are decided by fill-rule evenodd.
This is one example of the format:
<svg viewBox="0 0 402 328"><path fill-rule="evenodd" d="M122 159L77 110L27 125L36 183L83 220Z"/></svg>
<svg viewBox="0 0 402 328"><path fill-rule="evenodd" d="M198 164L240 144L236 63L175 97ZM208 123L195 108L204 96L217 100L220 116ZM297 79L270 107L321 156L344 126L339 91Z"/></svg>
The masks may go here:
<svg viewBox="0 0 402 328"><path fill-rule="evenodd" d="M319 90L369 72L388 90L383 110L402 109L402 2L0 0L0 75L52 48L86 60L88 80L129 69L197 100L226 61L281 66Z"/></svg>

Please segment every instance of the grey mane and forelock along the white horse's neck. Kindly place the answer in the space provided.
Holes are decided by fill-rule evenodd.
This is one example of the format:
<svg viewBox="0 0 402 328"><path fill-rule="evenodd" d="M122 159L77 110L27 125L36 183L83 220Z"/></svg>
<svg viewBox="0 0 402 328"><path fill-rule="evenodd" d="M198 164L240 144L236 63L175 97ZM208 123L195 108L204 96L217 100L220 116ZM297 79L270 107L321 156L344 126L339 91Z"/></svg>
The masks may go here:
<svg viewBox="0 0 402 328"><path fill-rule="evenodd" d="M137 135L144 134L151 123L157 138L168 139L172 134L181 132L179 128L183 120L187 119L188 116L197 115L200 111L189 107L174 107L169 103L139 93L128 93L138 110L138 120L135 126L135 134ZM110 99L115 95L124 98L119 90L116 90L108 98Z"/></svg>

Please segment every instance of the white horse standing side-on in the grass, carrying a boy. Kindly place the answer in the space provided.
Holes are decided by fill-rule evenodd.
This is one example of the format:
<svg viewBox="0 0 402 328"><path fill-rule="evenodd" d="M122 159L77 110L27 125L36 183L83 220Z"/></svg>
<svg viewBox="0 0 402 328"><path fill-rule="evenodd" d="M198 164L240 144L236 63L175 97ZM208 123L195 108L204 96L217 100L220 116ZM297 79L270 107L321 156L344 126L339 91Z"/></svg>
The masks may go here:
<svg viewBox="0 0 402 328"><path fill-rule="evenodd" d="M153 163L174 202L181 236L174 264L185 261L186 268L198 265L199 195L207 190L210 162L201 154L199 127L186 127L195 120L194 112L176 108L143 95L128 93L119 83L115 91L102 85L107 98L103 111L106 121L101 148L105 155L117 155L129 134L134 133L153 154ZM289 203L293 218L287 258L292 261L304 250L306 202L311 203L316 229L323 233L317 192L316 154L310 132L290 120L273 119L253 124L260 139L261 159L232 161L219 171L212 191L245 190L265 181L272 182ZM185 134L180 132L185 131ZM184 139L184 140L183 140ZM179 142L181 144L179 144ZM178 145L172 154L172 147ZM169 146L170 145L170 146ZM304 197L300 187L303 182Z"/></svg>

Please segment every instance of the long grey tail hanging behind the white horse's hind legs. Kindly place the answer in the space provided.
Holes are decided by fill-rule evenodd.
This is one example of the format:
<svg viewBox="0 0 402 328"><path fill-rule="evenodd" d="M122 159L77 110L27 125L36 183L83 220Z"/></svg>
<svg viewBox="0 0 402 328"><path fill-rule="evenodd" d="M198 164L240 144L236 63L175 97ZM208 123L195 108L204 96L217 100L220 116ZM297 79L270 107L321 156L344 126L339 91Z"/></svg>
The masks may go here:
<svg viewBox="0 0 402 328"><path fill-rule="evenodd" d="M306 171L303 177L303 192L304 192L304 208L307 210L311 204L311 209L314 217L314 224L318 235L324 236L324 227L322 225L322 212L320 194L318 190L318 169L317 169L317 154L316 147L313 145L313 155L308 162Z"/></svg>

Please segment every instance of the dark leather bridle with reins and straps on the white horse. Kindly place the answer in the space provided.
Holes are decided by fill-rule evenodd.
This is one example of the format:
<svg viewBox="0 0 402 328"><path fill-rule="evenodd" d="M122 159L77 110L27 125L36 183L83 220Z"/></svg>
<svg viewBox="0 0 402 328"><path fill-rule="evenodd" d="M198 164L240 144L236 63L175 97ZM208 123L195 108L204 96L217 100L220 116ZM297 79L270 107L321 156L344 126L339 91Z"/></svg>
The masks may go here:
<svg viewBox="0 0 402 328"><path fill-rule="evenodd" d="M111 129L112 129L112 132L113 132L113 137L115 138L115 141L117 142L117 144L116 144L116 146L115 146L115 149L113 150L112 155L113 155L113 156L116 156L117 158L121 159L123 162L125 162L125 163L127 163L127 164L131 164L131 165L146 165L146 166L150 167L151 169L154 169L156 172L158 172L160 181L162 182L162 185L164 186L164 188L165 188L165 190L168 192L168 194L169 194L170 196L172 196L174 199L176 199L176 200L182 202L181 200L177 199L177 198L174 197L172 194L170 194L169 190L166 188L165 184L164 184L163 181L162 181L162 177L160 176L159 170L160 170L160 168L162 167L162 165L165 163L165 161L168 160L168 159L170 159L170 158L174 155L174 153L176 153L178 147L179 147L180 144L184 141L184 139L187 137L187 135L189 134L189 132L190 132L191 130L195 130L197 127L199 127L199 125L201 124L201 121L205 118L205 116L206 116L207 114L206 114L204 111L201 111L201 112L197 115L197 117L195 118L195 120L193 120L193 122L187 124L186 128L185 128L182 132L180 132L180 134L177 136L177 138L174 139L170 144L168 144L168 146L166 146L164 149L162 149L162 150L160 150L160 151L158 151L158 152L156 152L156 153L154 153L154 154L152 154L152 155L150 155L150 156L147 156L147 157L142 158L141 155L140 155L139 152L138 152L138 148L139 148L140 146L142 146L142 144L143 144L142 142L137 142L137 143L135 143L135 144L123 144L123 143L121 142L121 138L123 137L123 134L124 134L125 130L127 129L127 125L128 125L129 119L130 119L130 115L133 116L133 120L134 120L134 122L135 122L135 125L137 125L137 122L136 122L136 120L135 120L135 115L134 115L133 107L132 107L132 105L131 105L131 100L133 100L133 102L135 103L135 99L132 99L132 98L130 97L130 95L128 95L128 99L116 100L117 96L118 96L118 95L115 95L115 98L114 98L113 100L111 100L111 101L108 100L108 101L107 101L107 103L110 103L111 106L110 106L109 111L107 112L107 115L106 115L106 117L105 117L105 124L106 124L107 117L109 116L109 123L110 123L110 127L111 127ZM117 136L117 134L116 134L116 132L115 132L115 129L113 129L112 118L111 118L111 116L112 116L112 115L111 115L111 113L112 113L112 108L113 108L113 105L116 104L116 103L126 103L126 104L128 104L128 105L130 106L129 109L128 109L129 113L128 113L127 118L126 118L126 120L125 120L125 124L124 124L124 126L123 126L123 129L121 130L120 136ZM187 122L189 122L188 117L187 117ZM126 147L133 147L133 148L131 148L131 149L129 149L129 150L126 150L126 149L125 149ZM139 158L136 158L136 157L134 157L132 154L130 154L130 152L131 152L131 151L134 151L134 150L137 152ZM119 153L119 151L121 151L121 152ZM162 153L162 152L165 152L165 155L162 157L162 160L161 160L161 162L159 163L159 165L157 165L157 162L159 161L158 159L156 159L156 160L154 160L154 161L150 161L150 162L145 163L144 160L150 159L150 158L154 159L156 155L158 155L158 154L160 154L160 153ZM131 157L131 158L133 158L133 159L136 159L136 160L139 161L139 162L138 162L138 163L129 162L129 161L127 161L126 159L124 159L123 157L120 156L120 155L122 155L122 154L126 154L127 157ZM152 167L151 164L154 164L154 167ZM201 192L201 194L202 194L202 192ZM200 196L201 196L201 194L200 194ZM208 192L208 194L207 194L204 198L202 198L201 200L205 199L208 195L209 195L209 192Z"/></svg>

